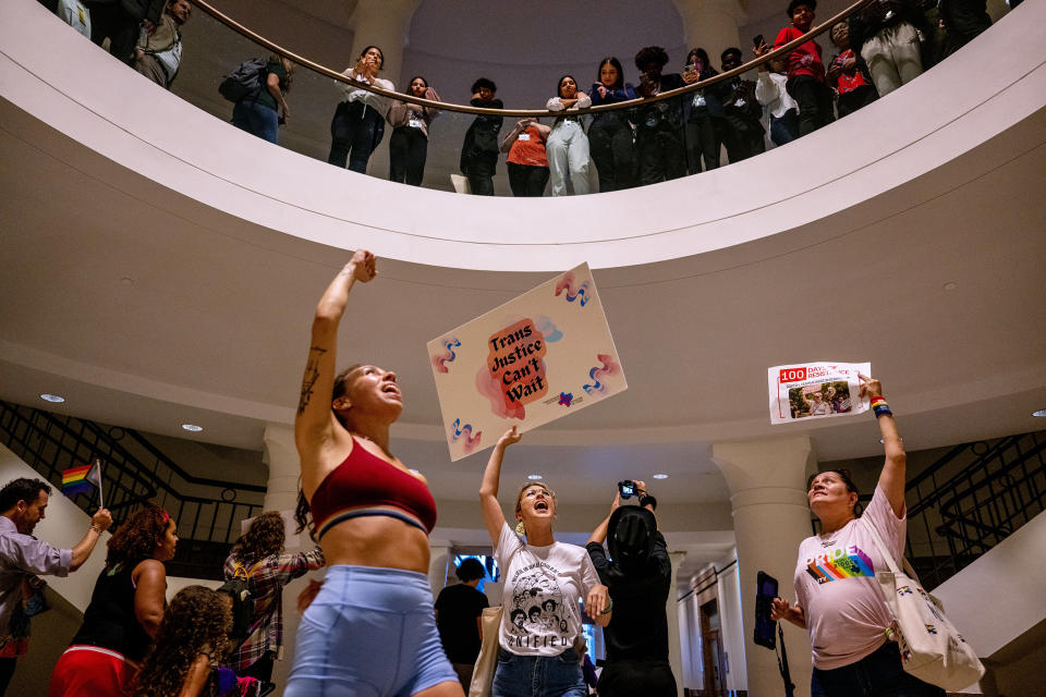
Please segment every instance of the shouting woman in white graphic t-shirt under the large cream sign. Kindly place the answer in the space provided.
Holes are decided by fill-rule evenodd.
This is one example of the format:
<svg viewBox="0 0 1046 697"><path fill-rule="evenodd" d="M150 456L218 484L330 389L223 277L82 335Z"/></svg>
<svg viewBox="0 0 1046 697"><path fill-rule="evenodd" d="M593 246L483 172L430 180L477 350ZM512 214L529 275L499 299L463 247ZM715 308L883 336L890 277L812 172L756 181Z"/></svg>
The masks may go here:
<svg viewBox="0 0 1046 697"><path fill-rule="evenodd" d="M599 626L610 623L610 596L583 547L552 537L556 494L542 481L515 497L515 531L498 503L504 450L522 433L498 440L479 487L479 505L502 570L504 612L498 636L492 697L581 697L587 694L575 645L583 640L577 601ZM525 535L526 541L518 537Z"/></svg>

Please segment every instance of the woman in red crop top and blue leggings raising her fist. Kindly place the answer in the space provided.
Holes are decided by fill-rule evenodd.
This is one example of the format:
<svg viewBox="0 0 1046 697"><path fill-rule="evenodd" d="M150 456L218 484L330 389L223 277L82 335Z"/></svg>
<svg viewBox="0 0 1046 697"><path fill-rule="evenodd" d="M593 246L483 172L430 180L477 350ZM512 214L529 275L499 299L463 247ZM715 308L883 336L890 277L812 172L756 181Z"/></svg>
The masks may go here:
<svg viewBox="0 0 1046 697"><path fill-rule="evenodd" d="M360 684L374 695L463 696L428 585L436 504L425 478L389 449L389 429L403 408L396 374L352 366L336 375L349 292L375 276L374 255L356 250L313 319L294 419L303 494L296 517L305 525L312 510L328 571L302 616L285 697L355 694Z"/></svg>

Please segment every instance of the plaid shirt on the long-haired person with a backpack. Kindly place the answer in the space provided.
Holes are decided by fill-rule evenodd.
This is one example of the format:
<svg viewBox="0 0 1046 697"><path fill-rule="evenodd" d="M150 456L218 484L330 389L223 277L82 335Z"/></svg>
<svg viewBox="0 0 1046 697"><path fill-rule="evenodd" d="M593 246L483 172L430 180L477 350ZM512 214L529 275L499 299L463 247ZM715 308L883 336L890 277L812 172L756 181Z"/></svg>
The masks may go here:
<svg viewBox="0 0 1046 697"><path fill-rule="evenodd" d="M226 559L226 580L232 578L236 561L232 554ZM268 651L277 659L283 658L283 586L324 563L324 552L316 547L305 553L270 554L256 566L243 565L250 574L251 594L256 599L256 616L246 640L229 657L232 670L241 673Z"/></svg>

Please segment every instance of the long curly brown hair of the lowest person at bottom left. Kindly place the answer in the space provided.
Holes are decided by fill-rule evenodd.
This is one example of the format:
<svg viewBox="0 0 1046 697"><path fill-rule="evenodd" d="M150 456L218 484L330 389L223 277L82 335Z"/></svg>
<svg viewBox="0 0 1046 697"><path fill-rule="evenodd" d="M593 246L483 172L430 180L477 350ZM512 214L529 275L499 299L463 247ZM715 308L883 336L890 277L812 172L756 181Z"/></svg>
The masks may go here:
<svg viewBox="0 0 1046 697"><path fill-rule="evenodd" d="M229 651L231 629L228 599L204 586L178 591L135 678L134 697L178 697L196 657L206 653L217 664Z"/></svg>

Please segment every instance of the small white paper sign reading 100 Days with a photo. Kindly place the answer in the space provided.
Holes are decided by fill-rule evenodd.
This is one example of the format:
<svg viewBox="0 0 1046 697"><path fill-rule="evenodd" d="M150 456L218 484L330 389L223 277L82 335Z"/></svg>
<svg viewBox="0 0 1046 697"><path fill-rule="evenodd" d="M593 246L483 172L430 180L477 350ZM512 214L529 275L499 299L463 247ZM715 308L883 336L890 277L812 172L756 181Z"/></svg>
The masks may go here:
<svg viewBox="0 0 1046 697"><path fill-rule="evenodd" d="M860 398L859 372L871 375L872 364L806 363L769 368L770 424L868 411L868 399Z"/></svg>

